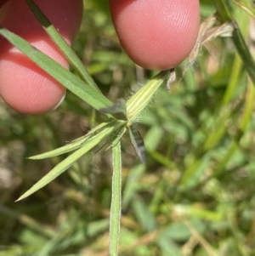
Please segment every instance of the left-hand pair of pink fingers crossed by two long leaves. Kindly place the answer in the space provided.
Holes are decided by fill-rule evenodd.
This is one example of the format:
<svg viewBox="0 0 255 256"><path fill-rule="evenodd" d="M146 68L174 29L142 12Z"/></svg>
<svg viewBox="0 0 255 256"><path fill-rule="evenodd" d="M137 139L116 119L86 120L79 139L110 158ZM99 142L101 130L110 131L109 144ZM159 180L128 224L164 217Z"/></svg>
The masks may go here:
<svg viewBox="0 0 255 256"><path fill-rule="evenodd" d="M35 2L70 44L82 21L82 0ZM65 57L31 14L25 0L8 0L3 5L0 26L23 37L68 68ZM26 114L54 109L65 96L65 88L3 37L0 37L0 45L0 94L3 100L14 110Z"/></svg>

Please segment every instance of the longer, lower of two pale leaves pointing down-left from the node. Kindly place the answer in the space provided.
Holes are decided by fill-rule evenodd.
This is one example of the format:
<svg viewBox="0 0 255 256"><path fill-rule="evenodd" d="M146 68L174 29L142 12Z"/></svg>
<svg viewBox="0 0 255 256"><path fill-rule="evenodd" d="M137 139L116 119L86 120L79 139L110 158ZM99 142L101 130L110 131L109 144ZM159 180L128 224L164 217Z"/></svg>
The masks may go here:
<svg viewBox="0 0 255 256"><path fill-rule="evenodd" d="M108 138L111 133L115 133L118 131L118 128L122 127L122 123L119 122L117 126L112 126L110 128L105 128L105 130L101 131L99 134L95 134L92 139L88 139L85 145L82 146L81 149L75 151L71 154L71 156L67 156L65 160L59 162L48 174L46 174L42 179L40 179L35 185L31 187L29 191L26 191L25 194L20 196L17 201L20 201L27 196L31 196L34 192L41 189L43 186L48 185L49 182L57 178L60 174L64 173L66 169L70 168L71 165L76 162L80 157L88 153L94 146L99 145L99 143ZM17 202L16 201L16 202Z"/></svg>

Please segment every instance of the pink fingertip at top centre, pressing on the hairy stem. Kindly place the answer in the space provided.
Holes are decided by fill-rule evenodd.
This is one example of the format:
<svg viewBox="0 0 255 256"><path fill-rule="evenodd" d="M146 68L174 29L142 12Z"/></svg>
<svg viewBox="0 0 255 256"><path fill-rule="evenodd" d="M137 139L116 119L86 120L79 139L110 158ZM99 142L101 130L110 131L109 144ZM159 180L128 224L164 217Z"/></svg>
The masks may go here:
<svg viewBox="0 0 255 256"><path fill-rule="evenodd" d="M167 70L179 65L195 45L199 0L109 0L122 48L138 65Z"/></svg>

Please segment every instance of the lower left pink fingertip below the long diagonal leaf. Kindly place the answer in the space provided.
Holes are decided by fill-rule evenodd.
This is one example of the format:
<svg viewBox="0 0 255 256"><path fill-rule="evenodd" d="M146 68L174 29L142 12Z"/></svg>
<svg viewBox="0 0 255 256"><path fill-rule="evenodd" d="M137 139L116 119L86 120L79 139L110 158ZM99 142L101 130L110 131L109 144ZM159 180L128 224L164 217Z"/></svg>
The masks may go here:
<svg viewBox="0 0 255 256"><path fill-rule="evenodd" d="M51 111L65 95L65 88L35 63L13 48L2 56L0 94L15 111L39 114ZM66 65L62 63L62 65Z"/></svg>

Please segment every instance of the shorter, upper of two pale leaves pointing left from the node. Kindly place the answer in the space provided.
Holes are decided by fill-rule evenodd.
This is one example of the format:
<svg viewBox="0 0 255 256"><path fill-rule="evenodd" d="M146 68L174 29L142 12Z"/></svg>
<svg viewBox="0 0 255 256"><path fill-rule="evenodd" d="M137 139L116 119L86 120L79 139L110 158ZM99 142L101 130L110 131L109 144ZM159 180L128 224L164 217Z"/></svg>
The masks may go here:
<svg viewBox="0 0 255 256"><path fill-rule="evenodd" d="M111 126L111 124L109 124L107 122L103 122L103 123L99 124L93 130L91 130L88 134L71 141L71 143L69 143L67 145L61 146L53 151L48 151L48 152L42 153L40 155L31 156L28 158L32 159L32 160L38 160L38 159L44 159L44 158L53 157L53 156L59 156L59 155L68 153L70 151L75 151L78 148L82 147L82 145L84 145L87 142L87 140L90 139L95 133L99 133L99 130L101 130L102 128L105 128L105 126L107 126L107 125Z"/></svg>

